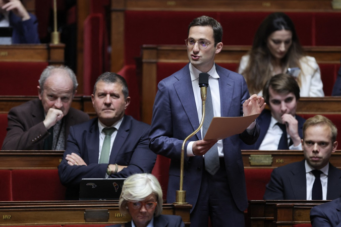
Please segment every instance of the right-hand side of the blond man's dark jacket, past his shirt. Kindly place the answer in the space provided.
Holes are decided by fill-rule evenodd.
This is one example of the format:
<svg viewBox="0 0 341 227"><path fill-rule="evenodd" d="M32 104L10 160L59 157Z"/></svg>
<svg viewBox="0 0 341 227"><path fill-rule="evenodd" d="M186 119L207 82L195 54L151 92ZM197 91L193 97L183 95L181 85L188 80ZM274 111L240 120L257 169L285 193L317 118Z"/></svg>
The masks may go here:
<svg viewBox="0 0 341 227"><path fill-rule="evenodd" d="M329 163L327 200L339 198L341 196L341 172Z"/></svg>

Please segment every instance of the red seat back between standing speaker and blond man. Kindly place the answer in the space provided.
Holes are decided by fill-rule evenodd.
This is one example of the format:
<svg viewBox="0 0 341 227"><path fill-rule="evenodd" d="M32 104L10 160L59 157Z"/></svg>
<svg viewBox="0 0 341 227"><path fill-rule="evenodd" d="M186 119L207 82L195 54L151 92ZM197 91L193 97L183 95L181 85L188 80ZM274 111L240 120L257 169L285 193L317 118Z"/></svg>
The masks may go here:
<svg viewBox="0 0 341 227"><path fill-rule="evenodd" d="M244 173L248 200L262 200L272 168L245 168Z"/></svg>

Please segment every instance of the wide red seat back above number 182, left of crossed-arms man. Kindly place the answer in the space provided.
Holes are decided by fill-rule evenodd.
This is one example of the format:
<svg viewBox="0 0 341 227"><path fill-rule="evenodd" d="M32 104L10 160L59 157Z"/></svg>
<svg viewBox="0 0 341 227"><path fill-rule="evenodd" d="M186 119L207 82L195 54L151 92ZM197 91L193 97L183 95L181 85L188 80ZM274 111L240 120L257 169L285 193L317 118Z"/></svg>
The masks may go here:
<svg viewBox="0 0 341 227"><path fill-rule="evenodd" d="M12 171L13 201L61 201L66 188L58 169L15 169Z"/></svg>

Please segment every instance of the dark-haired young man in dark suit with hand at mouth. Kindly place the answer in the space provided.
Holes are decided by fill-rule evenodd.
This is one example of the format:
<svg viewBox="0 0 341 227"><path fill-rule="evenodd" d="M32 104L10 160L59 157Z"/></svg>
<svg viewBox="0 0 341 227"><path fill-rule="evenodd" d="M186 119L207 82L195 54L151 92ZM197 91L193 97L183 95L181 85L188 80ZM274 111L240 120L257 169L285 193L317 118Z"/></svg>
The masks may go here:
<svg viewBox="0 0 341 227"><path fill-rule="evenodd" d="M301 150L306 120L296 115L300 87L295 78L288 74L273 76L263 88L263 97L270 110L264 109L257 118L260 134L256 143L242 142L242 150Z"/></svg>

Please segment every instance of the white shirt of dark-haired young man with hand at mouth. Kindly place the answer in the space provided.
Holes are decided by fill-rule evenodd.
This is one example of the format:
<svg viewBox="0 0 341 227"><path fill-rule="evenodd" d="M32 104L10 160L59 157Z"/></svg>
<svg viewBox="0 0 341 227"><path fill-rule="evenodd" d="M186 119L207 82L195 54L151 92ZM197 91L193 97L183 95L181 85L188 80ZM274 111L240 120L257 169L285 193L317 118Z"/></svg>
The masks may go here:
<svg viewBox="0 0 341 227"><path fill-rule="evenodd" d="M265 134L265 137L260 144L258 150L277 150L280 137L282 137L283 131L276 125L277 120L271 117L269 128ZM287 133L288 136L288 144L290 141L290 135ZM301 143L298 146L291 145L289 150L302 150Z"/></svg>

